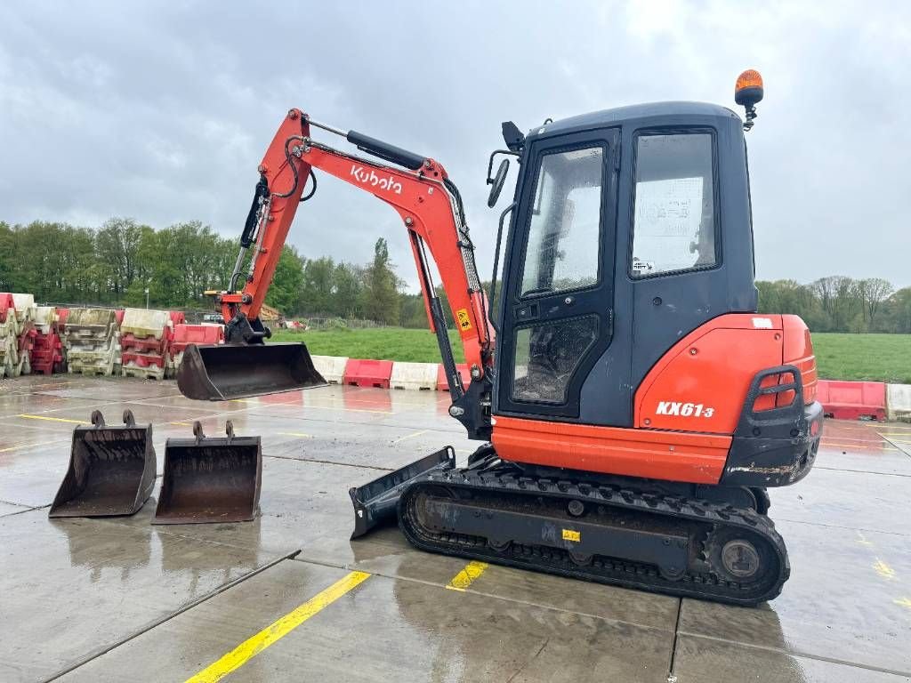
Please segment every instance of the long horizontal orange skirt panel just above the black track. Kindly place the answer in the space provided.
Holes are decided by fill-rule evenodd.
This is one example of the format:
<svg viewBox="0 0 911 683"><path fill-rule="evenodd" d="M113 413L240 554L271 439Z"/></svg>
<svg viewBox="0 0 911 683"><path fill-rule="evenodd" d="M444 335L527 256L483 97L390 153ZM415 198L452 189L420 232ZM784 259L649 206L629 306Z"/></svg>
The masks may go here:
<svg viewBox="0 0 911 683"><path fill-rule="evenodd" d="M717 484L731 447L731 437L718 434L515 417L497 417L491 441L500 457L519 463L694 484Z"/></svg>

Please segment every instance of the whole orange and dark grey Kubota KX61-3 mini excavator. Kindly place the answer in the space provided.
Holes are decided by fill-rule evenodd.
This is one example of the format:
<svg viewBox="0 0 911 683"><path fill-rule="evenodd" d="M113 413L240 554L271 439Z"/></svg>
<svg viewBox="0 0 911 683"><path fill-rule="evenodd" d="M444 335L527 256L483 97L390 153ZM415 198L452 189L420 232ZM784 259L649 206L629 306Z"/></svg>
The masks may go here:
<svg viewBox="0 0 911 683"><path fill-rule="evenodd" d="M465 467L445 448L353 488L353 537L397 517L431 552L742 605L777 596L790 566L766 489L810 471L823 413L804 321L756 312L743 131L762 97L751 70L735 87L745 121L724 107L667 102L548 119L527 135L503 124L488 206L508 157L520 172L499 219L493 315L445 168L292 109L259 167L230 287L217 293L228 343L189 348L181 392L222 400L324 383L303 344L264 344L258 320L294 214L322 170L398 211L449 413L487 442ZM328 147L316 128L386 163Z"/></svg>

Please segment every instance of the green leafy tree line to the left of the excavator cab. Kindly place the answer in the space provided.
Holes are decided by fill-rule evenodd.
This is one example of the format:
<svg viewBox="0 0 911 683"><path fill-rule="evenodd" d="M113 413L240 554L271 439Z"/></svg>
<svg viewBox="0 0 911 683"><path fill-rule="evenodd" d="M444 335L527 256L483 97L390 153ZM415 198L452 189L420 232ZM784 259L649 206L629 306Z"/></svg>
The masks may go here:
<svg viewBox="0 0 911 683"><path fill-rule="evenodd" d="M144 306L148 297L152 307L206 309L203 292L228 286L239 249L198 220L164 229L125 218L97 229L0 221L0 291L30 292L46 303ZM403 290L382 238L363 265L306 259L285 246L266 303L290 317L402 324Z"/></svg>

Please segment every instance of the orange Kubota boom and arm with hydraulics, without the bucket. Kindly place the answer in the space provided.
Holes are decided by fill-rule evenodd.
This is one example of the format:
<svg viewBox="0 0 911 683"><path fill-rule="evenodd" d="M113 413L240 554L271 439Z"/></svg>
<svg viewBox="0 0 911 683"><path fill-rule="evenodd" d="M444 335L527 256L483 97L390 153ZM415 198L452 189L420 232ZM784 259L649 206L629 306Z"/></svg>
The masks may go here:
<svg viewBox="0 0 911 683"><path fill-rule="evenodd" d="M359 149L404 168L386 166L316 142L311 138L312 127L343 136ZM315 184L314 169L370 192L398 212L415 258L430 329L436 334L448 377L453 398L450 413L466 424L469 433L489 433L487 375L493 364L494 335L487 317L486 294L477 275L474 245L455 184L445 168L432 158L355 131L343 132L325 126L299 109L288 112L262 158L260 181L241 235L241 253L230 287L217 293L227 321L226 341L253 346L268 336L269 332L259 321L261 306L302 203L305 186L310 178ZM250 266L243 269L250 249ZM455 368L428 253L439 271L471 370L469 387L463 385ZM241 270L249 272L244 274ZM238 291L241 278L243 287Z"/></svg>

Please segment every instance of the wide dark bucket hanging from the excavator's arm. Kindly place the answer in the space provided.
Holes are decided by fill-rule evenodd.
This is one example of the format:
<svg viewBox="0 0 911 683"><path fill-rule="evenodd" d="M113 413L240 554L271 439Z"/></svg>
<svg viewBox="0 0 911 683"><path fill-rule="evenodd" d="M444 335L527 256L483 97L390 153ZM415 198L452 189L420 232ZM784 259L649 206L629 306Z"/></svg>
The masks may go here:
<svg viewBox="0 0 911 683"><path fill-rule="evenodd" d="M184 396L229 401L327 384L302 343L190 344L177 371Z"/></svg>

